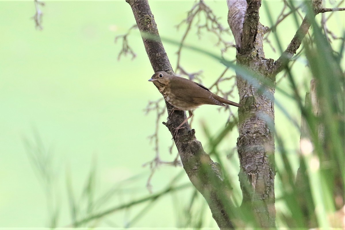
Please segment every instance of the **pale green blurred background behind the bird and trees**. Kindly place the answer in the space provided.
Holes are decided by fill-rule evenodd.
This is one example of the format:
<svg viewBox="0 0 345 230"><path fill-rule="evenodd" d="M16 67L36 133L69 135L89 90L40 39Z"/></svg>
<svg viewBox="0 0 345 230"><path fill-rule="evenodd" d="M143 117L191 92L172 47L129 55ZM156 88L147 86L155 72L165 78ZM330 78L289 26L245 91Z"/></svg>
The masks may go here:
<svg viewBox="0 0 345 230"><path fill-rule="evenodd" d="M193 2L150 3L160 35L178 41L185 27L176 31L174 26L186 17ZM225 1L207 3L227 26ZM269 1L269 4L274 9L279 3ZM23 138L34 140L35 130L45 147L51 148L55 168L59 172L56 190L61 204L59 227L71 223L65 182L67 167L77 197L85 184L91 161L95 159L96 197L116 182L143 175L132 184L132 193L115 197L107 207L149 194L145 186L150 171L142 164L155 155L147 137L154 132L156 116L154 113L145 116L144 108L149 100L156 100L161 94L147 81L153 72L137 30L129 37L137 58L117 60L121 43L115 44L114 38L135 23L129 5L125 1L47 1L42 11L43 30L40 31L34 28L30 19L34 14L33 1L0 2L0 227L5 228L48 227L42 183L33 171L23 144ZM273 13L276 15L278 10ZM340 28L344 28L342 19L337 20L343 23ZM263 21L268 25L262 16ZM278 32L295 31L294 24L286 25L278 28ZM282 38L283 45L288 44L293 33ZM198 42L193 35L187 42L217 55L220 53L214 46L215 37L212 35L205 33ZM175 68L177 47L164 45ZM279 54L267 51L266 56L277 59ZM230 49L226 57L234 59L235 50ZM194 51L184 51L182 64L190 72L204 70L205 86L209 86L224 70L220 63ZM307 76L300 79L300 93L303 95L310 79L303 62L297 63L296 67L299 69L295 71ZM229 71L228 75L231 74ZM279 86L290 92L286 80ZM233 96L231 100L238 101L237 92ZM279 92L276 100L284 103L291 117L299 123L300 114L294 113L295 104ZM221 130L228 114L219 113L217 109L204 106L195 112L193 128L206 151L208 145L200 123L205 122L214 134ZM236 109L233 111L237 112ZM166 121L166 117L165 114L161 121ZM276 124L277 130L284 132L290 144L289 150L294 154L298 149L299 133L279 109L276 109ZM168 153L171 135L163 125L160 128L161 157L173 160L176 150L173 155ZM236 146L237 136L234 130L219 147L224 158ZM236 177L238 162L229 163L229 168ZM153 190L164 188L181 170L182 167L161 166L152 179ZM183 181L188 181L187 176ZM134 227L176 226L173 203L185 203L189 199L189 196L178 197L178 201L172 196L159 200ZM135 214L136 211L111 215L107 219L112 224L102 223L100 226L123 227ZM206 226L216 227L211 216L208 217Z"/></svg>

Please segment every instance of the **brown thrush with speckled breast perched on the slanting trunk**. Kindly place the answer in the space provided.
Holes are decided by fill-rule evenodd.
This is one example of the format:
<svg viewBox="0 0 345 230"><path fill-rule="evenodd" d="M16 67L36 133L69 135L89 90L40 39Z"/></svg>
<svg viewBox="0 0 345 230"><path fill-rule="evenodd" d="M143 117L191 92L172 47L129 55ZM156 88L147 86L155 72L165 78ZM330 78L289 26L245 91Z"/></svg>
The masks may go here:
<svg viewBox="0 0 345 230"><path fill-rule="evenodd" d="M241 107L236 102L219 97L199 83L170 75L165 71L156 72L149 81L153 82L165 100L174 106L174 110L171 113L175 110L187 110L189 113L189 116L176 128L175 135L181 126L193 116L192 110L203 104L214 104L217 106L229 104L231 106Z"/></svg>

